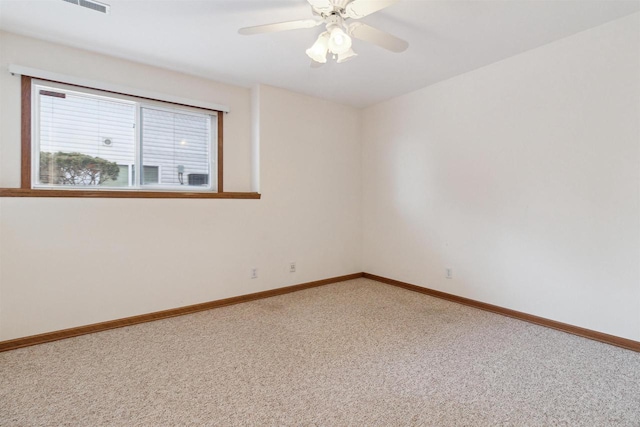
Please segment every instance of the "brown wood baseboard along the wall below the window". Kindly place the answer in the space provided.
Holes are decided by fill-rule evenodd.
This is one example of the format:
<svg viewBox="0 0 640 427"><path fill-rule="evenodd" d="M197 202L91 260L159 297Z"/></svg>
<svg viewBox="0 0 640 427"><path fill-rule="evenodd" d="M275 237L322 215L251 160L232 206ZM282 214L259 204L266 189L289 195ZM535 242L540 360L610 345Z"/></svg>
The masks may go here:
<svg viewBox="0 0 640 427"><path fill-rule="evenodd" d="M138 323L152 322L154 320L166 319L169 317L182 316L184 314L197 313L199 311L211 310L213 308L225 307L242 302L255 301L263 298L284 295L303 289L315 288L317 286L328 285L330 283L344 282L345 280L358 279L363 273L349 274L346 276L332 277L330 279L316 280L314 282L302 283L299 285L287 286L284 288L271 289L268 291L256 292L248 295L225 298L201 304L188 305L185 307L173 308L169 310L156 311L154 313L141 314L139 316L126 317L123 319L109 320L107 322L94 323L92 325L79 326L77 328L63 329L60 331L47 332L39 335L31 335L24 338L16 338L8 341L0 341L0 352L15 350L21 347L28 347L36 344L62 340L79 335L91 334L94 332L106 331L109 329L122 328L124 326L136 325Z"/></svg>

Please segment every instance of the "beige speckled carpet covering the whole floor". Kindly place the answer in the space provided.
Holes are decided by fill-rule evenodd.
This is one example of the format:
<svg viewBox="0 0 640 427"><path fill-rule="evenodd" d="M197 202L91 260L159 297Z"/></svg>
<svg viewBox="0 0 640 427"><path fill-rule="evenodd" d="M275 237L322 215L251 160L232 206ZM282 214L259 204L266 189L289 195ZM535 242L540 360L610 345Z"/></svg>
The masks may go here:
<svg viewBox="0 0 640 427"><path fill-rule="evenodd" d="M640 426L640 353L358 279L0 353L0 425Z"/></svg>

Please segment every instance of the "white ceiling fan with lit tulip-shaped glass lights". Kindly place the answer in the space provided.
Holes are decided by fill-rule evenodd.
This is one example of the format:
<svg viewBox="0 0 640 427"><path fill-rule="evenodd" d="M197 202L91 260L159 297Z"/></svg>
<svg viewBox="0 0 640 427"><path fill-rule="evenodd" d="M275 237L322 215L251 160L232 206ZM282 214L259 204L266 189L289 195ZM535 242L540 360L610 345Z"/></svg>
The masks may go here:
<svg viewBox="0 0 640 427"><path fill-rule="evenodd" d="M391 52L404 52L409 47L409 43L406 41L365 23L349 22L349 20L357 20L385 9L399 0L307 1L311 5L311 12L315 18L245 27L238 30L238 32L244 35L252 35L325 25L326 31L321 33L313 46L306 50L307 56L312 59L312 66L319 66L327 62L328 53L338 63L356 57L357 53L352 49L352 37L373 43Z"/></svg>

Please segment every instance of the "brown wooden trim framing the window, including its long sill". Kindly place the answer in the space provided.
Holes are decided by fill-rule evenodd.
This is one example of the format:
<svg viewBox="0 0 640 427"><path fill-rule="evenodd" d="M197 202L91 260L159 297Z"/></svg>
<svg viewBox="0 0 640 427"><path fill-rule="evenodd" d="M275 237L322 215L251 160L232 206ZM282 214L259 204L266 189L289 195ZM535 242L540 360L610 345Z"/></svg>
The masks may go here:
<svg viewBox="0 0 640 427"><path fill-rule="evenodd" d="M53 83L61 83L69 86L75 86L84 89L93 89L87 86L73 85L63 82L56 82L47 79L38 79ZM223 168L223 115L224 112L215 111L218 117L218 155L217 155L217 175L218 175L218 191L217 192L183 192L183 191L146 191L146 190L74 190L74 189L33 189L31 188L31 81L30 76L21 76L21 153L20 153L20 188L0 188L0 197L90 197L90 198L125 198L125 199L260 199L260 193L253 192L225 192L224 191L224 168ZM112 93L116 95L127 95L109 90L102 92ZM183 107L191 107L190 105L180 104L177 102L162 101L153 98L136 96L139 99L150 101L160 101L166 104L178 105ZM203 109L201 107L198 107Z"/></svg>

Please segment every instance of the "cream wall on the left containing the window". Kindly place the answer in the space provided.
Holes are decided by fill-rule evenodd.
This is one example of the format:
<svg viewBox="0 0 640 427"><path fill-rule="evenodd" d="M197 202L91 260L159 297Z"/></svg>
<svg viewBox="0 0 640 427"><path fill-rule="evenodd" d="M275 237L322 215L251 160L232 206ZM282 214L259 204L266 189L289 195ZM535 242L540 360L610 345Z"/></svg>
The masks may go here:
<svg viewBox="0 0 640 427"><path fill-rule="evenodd" d="M249 89L0 32L0 187L20 175L10 63L228 105L225 190L262 199L1 198L0 340L362 271L359 111L257 88L252 142Z"/></svg>

